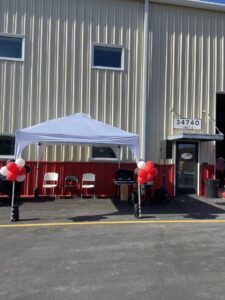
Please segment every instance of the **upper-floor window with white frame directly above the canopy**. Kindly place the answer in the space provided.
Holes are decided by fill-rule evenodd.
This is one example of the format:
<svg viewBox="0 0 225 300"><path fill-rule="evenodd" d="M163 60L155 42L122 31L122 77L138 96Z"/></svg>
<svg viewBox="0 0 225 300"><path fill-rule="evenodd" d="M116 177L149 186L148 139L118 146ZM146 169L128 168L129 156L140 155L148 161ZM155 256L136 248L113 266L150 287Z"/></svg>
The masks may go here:
<svg viewBox="0 0 225 300"><path fill-rule="evenodd" d="M93 68L123 70L124 49L119 46L93 45Z"/></svg>

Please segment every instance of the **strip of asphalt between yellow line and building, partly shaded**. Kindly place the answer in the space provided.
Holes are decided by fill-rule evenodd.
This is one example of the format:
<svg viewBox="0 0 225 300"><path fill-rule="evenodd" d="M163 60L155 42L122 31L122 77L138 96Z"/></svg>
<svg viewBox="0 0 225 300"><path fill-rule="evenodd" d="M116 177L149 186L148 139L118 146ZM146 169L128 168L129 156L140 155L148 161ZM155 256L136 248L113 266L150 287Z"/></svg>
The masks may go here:
<svg viewBox="0 0 225 300"><path fill-rule="evenodd" d="M133 220L135 218L134 205L130 201L122 202L118 198L80 199L77 197L55 199L53 197L21 197L17 203L22 206L23 218L20 221L24 222L59 218L73 222ZM1 198L0 208L4 206L10 207L11 199ZM2 210L3 218L4 213L8 213L8 211ZM163 203L151 198L149 201L142 203L141 218L224 219L225 201L221 199L220 202L220 198L207 199L197 195L177 196Z"/></svg>

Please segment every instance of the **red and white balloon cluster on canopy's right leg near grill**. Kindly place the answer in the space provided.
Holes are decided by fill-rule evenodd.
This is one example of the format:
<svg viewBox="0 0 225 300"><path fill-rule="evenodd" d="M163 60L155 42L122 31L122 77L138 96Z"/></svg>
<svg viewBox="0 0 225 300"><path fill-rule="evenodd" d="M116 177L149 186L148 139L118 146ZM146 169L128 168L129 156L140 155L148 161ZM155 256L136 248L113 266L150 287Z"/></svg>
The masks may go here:
<svg viewBox="0 0 225 300"><path fill-rule="evenodd" d="M148 160L147 162L140 160L137 166L137 181L140 184L152 181L154 177L158 175L158 170L155 168L154 163L151 160Z"/></svg>

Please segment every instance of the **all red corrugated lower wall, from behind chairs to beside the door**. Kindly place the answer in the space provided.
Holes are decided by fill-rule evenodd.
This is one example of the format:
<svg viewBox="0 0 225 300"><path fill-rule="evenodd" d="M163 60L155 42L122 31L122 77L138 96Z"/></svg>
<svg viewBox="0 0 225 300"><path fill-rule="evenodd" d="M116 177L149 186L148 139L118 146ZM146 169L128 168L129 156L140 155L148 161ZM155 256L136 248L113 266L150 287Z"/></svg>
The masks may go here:
<svg viewBox="0 0 225 300"><path fill-rule="evenodd" d="M4 162L1 162L1 166ZM36 182L36 170L37 162L27 162L30 167L30 173L27 174L26 180L22 186L22 195L33 195L35 182ZM163 175L165 176L165 187L167 191L174 194L174 166L173 165L159 165L155 167L159 171L159 175L155 178L154 187L160 187L163 185ZM136 168L135 163L121 163L120 168L130 169L134 171ZM83 173L95 173L96 174L96 195L107 197L115 195L115 185L113 179L115 178L116 170L118 169L118 163L103 163L103 162L40 162L39 163L39 176L38 176L38 188L39 193L42 194L41 189L43 183L43 174L45 172L57 172L59 173L59 188L58 195L63 194L63 181L68 175L75 175L79 182ZM51 191L50 191L51 192Z"/></svg>

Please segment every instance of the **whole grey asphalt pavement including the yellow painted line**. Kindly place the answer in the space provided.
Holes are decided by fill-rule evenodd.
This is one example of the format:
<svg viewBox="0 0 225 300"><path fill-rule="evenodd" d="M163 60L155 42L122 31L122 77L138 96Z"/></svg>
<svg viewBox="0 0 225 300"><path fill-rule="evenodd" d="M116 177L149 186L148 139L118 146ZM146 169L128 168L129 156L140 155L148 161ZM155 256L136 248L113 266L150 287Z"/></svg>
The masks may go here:
<svg viewBox="0 0 225 300"><path fill-rule="evenodd" d="M225 298L225 200L0 200L0 299Z"/></svg>

